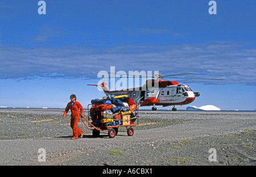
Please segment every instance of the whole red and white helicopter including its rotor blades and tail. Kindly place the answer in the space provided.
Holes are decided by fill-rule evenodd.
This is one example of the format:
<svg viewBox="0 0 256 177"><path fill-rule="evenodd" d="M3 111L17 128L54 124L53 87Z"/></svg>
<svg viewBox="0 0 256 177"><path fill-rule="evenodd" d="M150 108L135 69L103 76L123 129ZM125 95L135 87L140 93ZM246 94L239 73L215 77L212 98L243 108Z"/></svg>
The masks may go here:
<svg viewBox="0 0 256 177"><path fill-rule="evenodd" d="M187 85L180 85L176 81L162 81L162 78L174 78L177 75L187 75L197 73L181 73L161 76L155 74L148 79L142 87L134 87L123 90L109 91L106 87L106 83L102 82L101 85L90 85L98 86L104 90L106 95L127 95L132 98L135 102L139 103L140 106L152 106L152 111L156 111L156 106L172 106L172 111L176 111L176 105L185 105L192 103L196 97L200 96L199 92L194 92ZM177 78L177 77L175 77ZM184 79L184 78L180 78ZM208 78L185 78L185 79L208 79ZM211 79L211 80L222 80L222 79Z"/></svg>

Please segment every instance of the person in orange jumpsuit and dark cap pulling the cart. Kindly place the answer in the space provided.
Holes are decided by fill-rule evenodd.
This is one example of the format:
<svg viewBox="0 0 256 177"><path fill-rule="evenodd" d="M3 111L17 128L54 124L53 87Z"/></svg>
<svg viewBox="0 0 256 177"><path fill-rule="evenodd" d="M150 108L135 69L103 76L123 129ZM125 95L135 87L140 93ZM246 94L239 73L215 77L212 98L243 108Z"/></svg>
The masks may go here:
<svg viewBox="0 0 256 177"><path fill-rule="evenodd" d="M76 95L72 94L70 96L70 100L71 102L69 102L67 104L67 107L65 108L65 112L63 114L63 119L65 119L65 116L67 115L69 109L71 110L71 123L70 126L73 129L73 137L71 138L71 140L75 140L78 138L79 134L80 134L80 138L82 138L82 130L80 130L77 127L77 123L79 121L80 115L79 115L79 109L80 109L80 114L82 116L82 106L79 102L76 102Z"/></svg>

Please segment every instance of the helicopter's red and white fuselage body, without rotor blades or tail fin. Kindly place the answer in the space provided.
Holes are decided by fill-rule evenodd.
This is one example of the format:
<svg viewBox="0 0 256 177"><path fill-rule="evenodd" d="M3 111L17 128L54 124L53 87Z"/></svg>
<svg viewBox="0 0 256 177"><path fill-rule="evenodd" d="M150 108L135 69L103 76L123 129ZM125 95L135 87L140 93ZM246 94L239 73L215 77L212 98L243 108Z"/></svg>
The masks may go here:
<svg viewBox="0 0 256 177"><path fill-rule="evenodd" d="M173 106L174 111L175 105L192 103L200 95L199 92L193 92L189 86L173 81L162 81L158 87L147 87L146 83L143 87L104 92L106 95L127 95L141 106L153 106L152 110L156 110L155 106Z"/></svg>

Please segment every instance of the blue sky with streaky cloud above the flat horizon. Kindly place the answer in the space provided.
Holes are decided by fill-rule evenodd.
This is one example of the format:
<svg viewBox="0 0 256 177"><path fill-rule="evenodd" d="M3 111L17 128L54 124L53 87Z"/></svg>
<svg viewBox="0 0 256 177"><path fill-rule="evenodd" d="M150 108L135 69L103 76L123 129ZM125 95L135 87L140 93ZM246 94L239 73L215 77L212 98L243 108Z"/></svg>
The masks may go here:
<svg viewBox="0 0 256 177"><path fill-rule="evenodd" d="M104 93L97 72L195 72L173 79L201 96L189 106L256 108L256 1L0 1L0 106L84 107ZM177 107L185 109L187 106ZM159 107L160 108L160 107Z"/></svg>

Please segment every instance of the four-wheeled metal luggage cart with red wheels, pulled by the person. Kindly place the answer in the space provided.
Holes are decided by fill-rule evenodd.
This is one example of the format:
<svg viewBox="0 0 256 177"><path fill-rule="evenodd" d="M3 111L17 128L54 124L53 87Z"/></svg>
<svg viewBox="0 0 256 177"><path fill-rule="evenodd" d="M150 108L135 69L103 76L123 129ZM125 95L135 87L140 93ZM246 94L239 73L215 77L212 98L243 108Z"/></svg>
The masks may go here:
<svg viewBox="0 0 256 177"><path fill-rule="evenodd" d="M133 136L134 134L134 126L139 125L139 109L136 104L137 114L135 117L131 117L129 112L120 112L113 116L113 119L108 118L107 113L103 113L104 111L90 111L91 108L97 107L97 104L88 104L88 119L84 116L81 117L82 122L85 126L92 130L93 137L99 137L100 132L108 132L109 138L114 138L118 133L119 127L125 127L127 130L128 136ZM92 115L92 113L94 115ZM87 123L83 120L86 120ZM137 123L135 124L135 122Z"/></svg>

